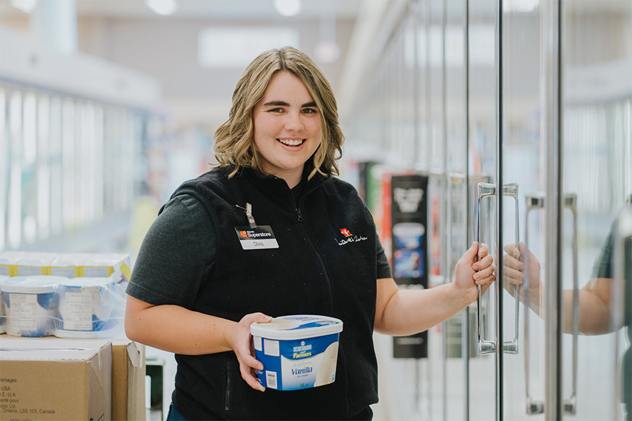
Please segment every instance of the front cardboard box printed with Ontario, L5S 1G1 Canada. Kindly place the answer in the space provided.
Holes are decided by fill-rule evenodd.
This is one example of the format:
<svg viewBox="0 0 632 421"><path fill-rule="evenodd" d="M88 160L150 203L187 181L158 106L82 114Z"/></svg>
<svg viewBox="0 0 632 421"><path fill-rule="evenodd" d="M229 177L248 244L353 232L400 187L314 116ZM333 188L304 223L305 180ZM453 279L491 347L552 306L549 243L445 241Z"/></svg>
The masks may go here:
<svg viewBox="0 0 632 421"><path fill-rule="evenodd" d="M0 340L2 419L110 420L110 342L98 349L20 349L6 345Z"/></svg>

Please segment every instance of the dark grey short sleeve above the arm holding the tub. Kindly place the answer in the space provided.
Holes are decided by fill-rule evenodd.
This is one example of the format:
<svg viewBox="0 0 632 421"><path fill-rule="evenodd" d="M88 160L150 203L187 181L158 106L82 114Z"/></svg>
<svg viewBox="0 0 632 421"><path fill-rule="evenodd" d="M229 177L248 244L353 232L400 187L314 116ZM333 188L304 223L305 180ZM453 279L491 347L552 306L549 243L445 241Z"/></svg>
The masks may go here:
<svg viewBox="0 0 632 421"><path fill-rule="evenodd" d="M215 266L216 236L206 208L183 194L166 203L140 246L126 293L152 305L192 308Z"/></svg>

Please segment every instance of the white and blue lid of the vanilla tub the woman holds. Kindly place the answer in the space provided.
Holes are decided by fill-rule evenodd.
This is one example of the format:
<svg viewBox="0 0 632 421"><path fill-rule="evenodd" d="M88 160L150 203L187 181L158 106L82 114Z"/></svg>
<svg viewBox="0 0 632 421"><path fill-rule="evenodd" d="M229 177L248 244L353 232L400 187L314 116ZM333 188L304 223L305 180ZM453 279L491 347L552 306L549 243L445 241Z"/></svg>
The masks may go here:
<svg viewBox="0 0 632 421"><path fill-rule="evenodd" d="M272 319L270 323L252 323L250 333L261 338L295 340L340 333L340 319L314 314L293 314Z"/></svg>

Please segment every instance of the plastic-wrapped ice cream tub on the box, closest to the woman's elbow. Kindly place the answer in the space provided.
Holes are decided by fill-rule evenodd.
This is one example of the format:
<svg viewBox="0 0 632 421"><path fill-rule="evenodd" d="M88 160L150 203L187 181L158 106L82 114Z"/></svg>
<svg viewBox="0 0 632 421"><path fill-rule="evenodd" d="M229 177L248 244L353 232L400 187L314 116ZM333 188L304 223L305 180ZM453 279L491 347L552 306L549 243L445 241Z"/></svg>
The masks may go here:
<svg viewBox="0 0 632 421"><path fill-rule="evenodd" d="M58 338L108 338L119 326L112 277L65 279L59 287Z"/></svg>

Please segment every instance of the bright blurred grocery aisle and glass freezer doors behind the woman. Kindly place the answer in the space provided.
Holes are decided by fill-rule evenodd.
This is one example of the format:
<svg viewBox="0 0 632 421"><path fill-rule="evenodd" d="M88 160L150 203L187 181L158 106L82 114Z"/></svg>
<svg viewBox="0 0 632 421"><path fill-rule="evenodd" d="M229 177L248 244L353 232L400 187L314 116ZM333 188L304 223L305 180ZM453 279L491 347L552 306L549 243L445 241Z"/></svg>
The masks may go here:
<svg viewBox="0 0 632 421"><path fill-rule="evenodd" d="M331 81L347 136L341 178L364 195L389 256L390 176L415 173L428 182L427 286L451 281L479 233L499 262L527 227L542 273L565 269L545 283L588 281L632 193L631 1L165 1L171 15L150 3L0 0L0 251L118 251L133 262L159 206L213 161L213 132L245 65L292 44ZM275 4L301 8L287 16ZM480 201L490 184L501 196ZM577 198L575 272L570 211L562 239L544 211L527 221L545 193ZM560 262L545 253L553 243ZM579 383L577 413L564 417L621 419L623 330L581 335L574 377L572 335L548 342L544 320L511 289L499 283L430 329L427 358L395 359L393 340L376 334L376 420L545 419L553 412L527 414L526 396L551 411L553 345L563 348L553 389L567 396ZM502 344L488 355L480 326ZM169 390L173 357L147 356Z"/></svg>

